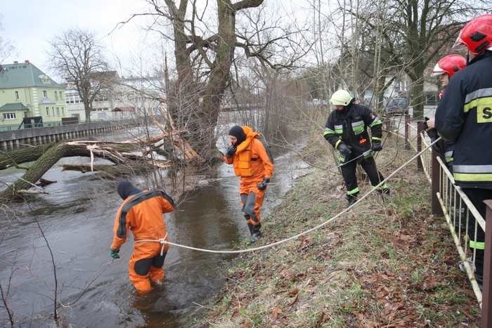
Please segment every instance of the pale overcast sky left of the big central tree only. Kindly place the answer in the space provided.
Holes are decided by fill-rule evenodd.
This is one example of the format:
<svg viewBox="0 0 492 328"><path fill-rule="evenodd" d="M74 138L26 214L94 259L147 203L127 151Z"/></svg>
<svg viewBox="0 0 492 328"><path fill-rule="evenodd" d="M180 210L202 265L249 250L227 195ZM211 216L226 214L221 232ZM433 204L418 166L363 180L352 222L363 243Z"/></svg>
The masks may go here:
<svg viewBox="0 0 492 328"><path fill-rule="evenodd" d="M109 34L117 22L145 10L142 0L3 0L0 8L1 33L15 47L13 55L4 63L30 60L51 75L48 41L65 29L81 27L94 32L107 48L112 66L117 66L117 58L122 66L133 65L131 58L157 40L155 34L143 29L144 18Z"/></svg>

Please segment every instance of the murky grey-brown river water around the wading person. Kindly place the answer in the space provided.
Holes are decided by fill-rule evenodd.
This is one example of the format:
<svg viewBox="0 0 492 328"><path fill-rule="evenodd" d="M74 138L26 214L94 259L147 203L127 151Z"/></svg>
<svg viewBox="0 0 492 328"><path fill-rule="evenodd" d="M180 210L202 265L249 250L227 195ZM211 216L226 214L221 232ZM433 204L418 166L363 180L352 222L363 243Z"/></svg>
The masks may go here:
<svg viewBox="0 0 492 328"><path fill-rule="evenodd" d="M276 184L268 187L264 214L306 171L293 156L287 152L276 158L272 181ZM87 163L88 159L67 158L58 164L67 162ZM11 182L21 174L8 169L0 173L0 181ZM53 266L35 221L55 258L58 300L64 305L62 322L74 327L190 327L189 318L200 317L202 305L221 288L225 264L232 256L171 247L163 286L138 297L127 276L132 242L122 247L121 259L113 261L109 256L113 216L121 202L115 182L101 181L92 173L62 172L60 166L44 177L58 181L46 187L48 195L30 204L9 204L15 215L0 214L0 282L5 288L11 277L8 305L20 326L50 327L47 317L53 313ZM249 236L238 202L238 179L231 166L223 164L215 179L203 181L167 216L170 240L208 249L236 247ZM268 219L264 226L267 231ZM5 314L0 308L2 327L8 323Z"/></svg>

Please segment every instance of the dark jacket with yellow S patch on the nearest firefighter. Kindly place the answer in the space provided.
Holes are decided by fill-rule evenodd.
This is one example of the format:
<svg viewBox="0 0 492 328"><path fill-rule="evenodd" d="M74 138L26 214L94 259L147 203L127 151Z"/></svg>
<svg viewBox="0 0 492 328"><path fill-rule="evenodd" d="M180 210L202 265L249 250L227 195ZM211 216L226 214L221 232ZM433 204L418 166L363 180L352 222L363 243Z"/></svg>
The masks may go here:
<svg viewBox="0 0 492 328"><path fill-rule="evenodd" d="M456 72L436 110L436 129L455 141L453 176L465 188L492 188L492 51Z"/></svg>

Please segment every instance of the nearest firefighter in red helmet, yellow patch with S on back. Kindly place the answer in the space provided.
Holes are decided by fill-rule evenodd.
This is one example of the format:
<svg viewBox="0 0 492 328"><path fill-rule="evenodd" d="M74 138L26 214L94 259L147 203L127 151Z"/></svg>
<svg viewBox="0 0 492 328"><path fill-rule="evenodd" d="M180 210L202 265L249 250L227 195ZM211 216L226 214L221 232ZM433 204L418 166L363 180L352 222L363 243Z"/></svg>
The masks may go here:
<svg viewBox="0 0 492 328"><path fill-rule="evenodd" d="M467 67L457 72L436 110L436 129L455 143L453 177L484 218L485 199L492 199L492 14L481 15L460 31L456 44L467 48ZM488 149L488 151L484 151ZM484 269L484 231L472 218L470 249L476 251L476 277Z"/></svg>

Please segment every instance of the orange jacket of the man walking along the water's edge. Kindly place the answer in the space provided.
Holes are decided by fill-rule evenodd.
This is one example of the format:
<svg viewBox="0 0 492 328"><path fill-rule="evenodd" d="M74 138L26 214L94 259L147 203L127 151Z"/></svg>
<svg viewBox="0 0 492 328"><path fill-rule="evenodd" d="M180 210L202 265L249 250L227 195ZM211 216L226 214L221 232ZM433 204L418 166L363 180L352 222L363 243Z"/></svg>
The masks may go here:
<svg viewBox="0 0 492 328"><path fill-rule="evenodd" d="M242 130L245 131L246 140L238 145L232 157L224 157L224 162L233 164L235 175L242 180L261 181L263 178L271 178L273 164L263 143L257 139L259 133L250 126L242 126Z"/></svg>

